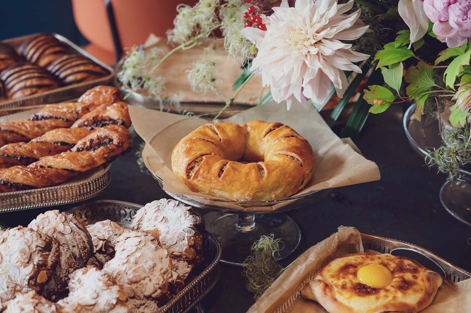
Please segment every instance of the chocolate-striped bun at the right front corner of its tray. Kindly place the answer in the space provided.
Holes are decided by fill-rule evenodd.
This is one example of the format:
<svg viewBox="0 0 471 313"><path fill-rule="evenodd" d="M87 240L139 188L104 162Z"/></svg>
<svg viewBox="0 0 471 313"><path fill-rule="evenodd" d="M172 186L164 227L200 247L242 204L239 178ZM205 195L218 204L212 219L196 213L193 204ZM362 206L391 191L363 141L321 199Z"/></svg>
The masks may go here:
<svg viewBox="0 0 471 313"><path fill-rule="evenodd" d="M56 75L65 85L96 80L108 74L108 71L100 65L75 54L59 56L49 65L48 71Z"/></svg>

